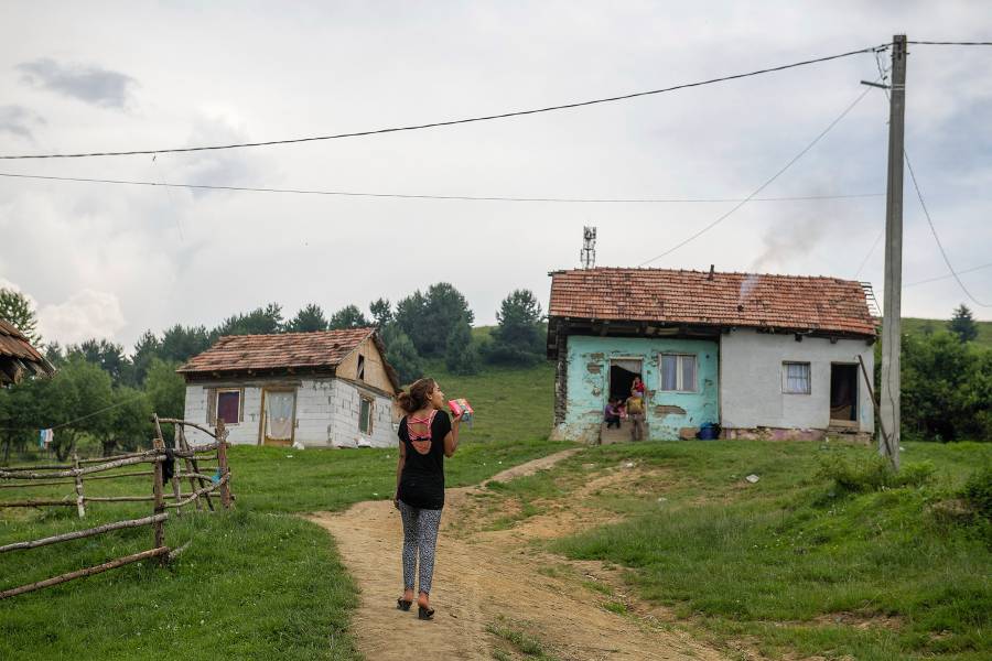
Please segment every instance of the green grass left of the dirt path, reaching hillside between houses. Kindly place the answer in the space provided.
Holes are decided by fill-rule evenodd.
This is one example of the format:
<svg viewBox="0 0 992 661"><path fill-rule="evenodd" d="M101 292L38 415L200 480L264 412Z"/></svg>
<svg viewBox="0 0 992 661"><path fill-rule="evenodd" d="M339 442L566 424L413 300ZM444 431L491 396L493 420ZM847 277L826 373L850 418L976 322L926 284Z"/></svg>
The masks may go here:
<svg viewBox="0 0 992 661"><path fill-rule="evenodd" d="M449 486L476 484L556 452L548 443L546 366L472 378L432 373L477 407L474 429L446 462ZM543 394L543 399L541 399ZM525 400L522 405L517 402ZM496 424L504 420L506 424ZM0 602L0 659L357 659L348 629L355 586L332 538L292 516L390 498L396 451L236 446L236 508L173 517L166 544L193 540L169 568L133 564ZM100 480L87 495L141 495L149 478ZM0 499L63 497L71 486L3 489ZM14 496L17 494L17 496ZM0 510L0 544L151 513L150 503ZM150 548L150 528L0 555L0 586L13 587Z"/></svg>

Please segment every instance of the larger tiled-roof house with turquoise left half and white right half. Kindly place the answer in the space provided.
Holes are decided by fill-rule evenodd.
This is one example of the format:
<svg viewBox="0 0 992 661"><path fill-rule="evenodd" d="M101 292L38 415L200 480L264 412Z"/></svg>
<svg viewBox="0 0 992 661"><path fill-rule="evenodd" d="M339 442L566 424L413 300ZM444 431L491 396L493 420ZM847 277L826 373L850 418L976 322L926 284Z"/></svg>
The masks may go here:
<svg viewBox="0 0 992 661"><path fill-rule="evenodd" d="M837 278L582 269L551 275L554 437L595 442L603 411L646 387L651 438L871 434L867 295ZM862 368L863 365L863 368Z"/></svg>

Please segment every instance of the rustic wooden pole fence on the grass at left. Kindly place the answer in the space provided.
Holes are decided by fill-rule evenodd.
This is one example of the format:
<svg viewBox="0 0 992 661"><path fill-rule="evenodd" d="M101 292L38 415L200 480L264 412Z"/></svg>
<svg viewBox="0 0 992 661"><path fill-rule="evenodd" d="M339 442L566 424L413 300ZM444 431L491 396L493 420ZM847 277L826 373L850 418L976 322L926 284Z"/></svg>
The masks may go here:
<svg viewBox="0 0 992 661"><path fill-rule="evenodd" d="M41 466L22 466L15 468L0 468L0 489L31 488L50 485L73 485L75 494L66 496L63 499L25 499L25 500L0 500L0 508L8 507L76 507L80 518L86 516L86 503L91 502L141 502L151 501L152 514L140 519L129 519L125 521L115 521L105 523L86 530L75 530L63 534L56 534L39 540L30 540L24 542L14 542L0 546L0 553L10 551L37 549L50 544L57 544L71 540L78 540L99 534L106 534L115 530L125 528L138 528L151 525L153 529L153 546L140 553L125 555L110 560L99 565L77 570L61 576L54 576L36 583L30 583L20 587L14 587L0 592L0 599L13 597L20 594L41 589L52 585L58 585L73 578L83 576L91 576L108 570L123 566L132 562L154 557L160 564L165 564L181 553L187 545L184 544L179 549L172 550L165 545L165 521L169 519L168 509L174 509L179 516L182 507L193 505L197 510L206 508L214 510L214 503L211 494L219 491L220 505L225 509L230 508L234 496L230 492L230 468L227 464L227 431L224 429L224 422L218 421L215 430L209 430L198 424L184 420L159 419L154 416L157 437L152 441L152 449L144 452L134 452L115 457L98 457L93 459L80 459L73 454L72 464L50 464ZM175 425L175 437L173 447L166 449L165 441L162 436L160 423L171 423ZM191 446L186 442L185 427L196 427L214 438L213 443L205 445ZM203 456L203 453L209 453ZM173 470L172 494L164 492L164 479L166 462L177 462L181 459L184 470ZM217 460L216 473L209 475L204 473L206 468L201 467L200 462ZM115 470L125 466L139 466L142 464L151 464L151 469L132 470L128 473L114 473L109 475L99 475L108 470ZM174 466L174 464L173 464ZM86 496L85 483L97 479L117 479L131 478L139 476L151 476L152 490L151 495L145 496L105 496L94 497ZM190 480L190 492L183 494L181 489L181 480L187 478ZM0 491L2 494L2 491ZM172 502L166 500L172 499Z"/></svg>

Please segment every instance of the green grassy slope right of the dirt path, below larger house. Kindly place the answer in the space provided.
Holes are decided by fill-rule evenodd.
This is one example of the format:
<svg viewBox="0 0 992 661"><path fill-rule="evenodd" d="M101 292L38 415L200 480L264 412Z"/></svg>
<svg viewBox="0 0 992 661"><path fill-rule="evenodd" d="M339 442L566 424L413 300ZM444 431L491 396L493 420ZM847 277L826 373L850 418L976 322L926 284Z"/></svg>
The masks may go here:
<svg viewBox="0 0 992 661"><path fill-rule="evenodd" d="M640 598L727 649L746 640L776 659L988 659L992 538L956 495L992 463L992 445L904 446L904 473L934 470L923 486L849 494L820 474L840 458L873 460L864 446L678 442L589 448L496 490L538 513L571 499L585 475L630 470L582 503L623 522L550 549L626 567ZM757 484L743 479L751 474Z"/></svg>

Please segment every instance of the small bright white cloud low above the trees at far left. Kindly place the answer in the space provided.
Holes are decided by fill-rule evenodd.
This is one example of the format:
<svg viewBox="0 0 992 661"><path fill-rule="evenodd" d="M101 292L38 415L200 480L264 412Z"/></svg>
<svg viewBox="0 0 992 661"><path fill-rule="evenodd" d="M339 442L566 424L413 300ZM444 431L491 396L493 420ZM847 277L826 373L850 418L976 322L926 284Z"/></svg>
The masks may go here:
<svg viewBox="0 0 992 661"><path fill-rule="evenodd" d="M42 335L63 344L112 338L127 324L115 294L90 289L76 292L64 303L42 306L37 317Z"/></svg>

